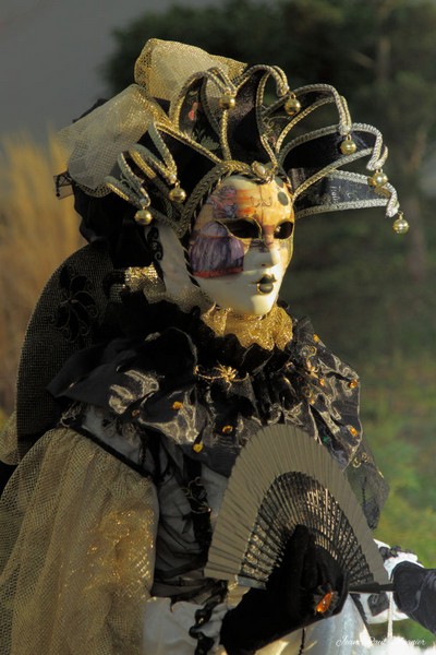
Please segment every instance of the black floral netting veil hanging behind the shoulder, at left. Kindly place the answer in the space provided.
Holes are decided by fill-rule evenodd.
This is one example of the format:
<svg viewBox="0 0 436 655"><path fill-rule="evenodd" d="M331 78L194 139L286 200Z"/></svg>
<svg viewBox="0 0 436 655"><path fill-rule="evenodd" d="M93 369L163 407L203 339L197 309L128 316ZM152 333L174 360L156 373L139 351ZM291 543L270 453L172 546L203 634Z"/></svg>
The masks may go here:
<svg viewBox="0 0 436 655"><path fill-rule="evenodd" d="M46 390L74 353L98 341L108 309L102 279L112 271L104 247L85 246L55 272L29 321L17 378L16 433L24 454L53 427L61 407Z"/></svg>

